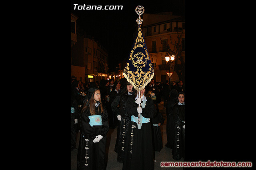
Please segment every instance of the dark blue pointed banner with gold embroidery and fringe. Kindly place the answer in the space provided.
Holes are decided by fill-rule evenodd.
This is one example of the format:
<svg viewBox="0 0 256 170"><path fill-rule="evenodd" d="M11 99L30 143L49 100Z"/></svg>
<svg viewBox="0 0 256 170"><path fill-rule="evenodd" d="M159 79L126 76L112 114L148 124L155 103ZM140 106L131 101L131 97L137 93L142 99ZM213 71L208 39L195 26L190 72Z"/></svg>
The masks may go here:
<svg viewBox="0 0 256 170"><path fill-rule="evenodd" d="M143 90L154 76L154 69L140 25L134 39L130 56L124 68L124 77L138 91Z"/></svg>

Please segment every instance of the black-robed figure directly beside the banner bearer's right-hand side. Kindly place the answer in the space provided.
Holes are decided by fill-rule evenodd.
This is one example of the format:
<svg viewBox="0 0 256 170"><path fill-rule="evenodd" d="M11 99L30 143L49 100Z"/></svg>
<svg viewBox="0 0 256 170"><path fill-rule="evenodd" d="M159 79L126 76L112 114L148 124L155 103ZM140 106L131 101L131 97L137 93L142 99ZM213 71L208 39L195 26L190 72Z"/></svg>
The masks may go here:
<svg viewBox="0 0 256 170"><path fill-rule="evenodd" d="M158 105L156 103L154 103L154 105L156 107L156 116L152 118L153 150L160 152L163 148L160 125L164 124L164 117L162 113L159 112Z"/></svg>

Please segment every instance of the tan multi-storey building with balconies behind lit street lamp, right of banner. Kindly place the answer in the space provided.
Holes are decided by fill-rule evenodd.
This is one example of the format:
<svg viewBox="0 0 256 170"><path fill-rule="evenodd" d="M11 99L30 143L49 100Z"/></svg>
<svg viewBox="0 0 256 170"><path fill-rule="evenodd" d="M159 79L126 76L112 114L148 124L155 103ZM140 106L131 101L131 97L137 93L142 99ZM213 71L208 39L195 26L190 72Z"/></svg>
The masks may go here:
<svg viewBox="0 0 256 170"><path fill-rule="evenodd" d="M165 60L168 49L174 48L178 42L177 35L180 36L182 48L180 54L185 62L185 19L183 16L173 16L172 12L159 14L143 14L142 33L149 52L149 56L154 67L154 79L165 82L169 80L168 72L171 72L171 81L178 81L178 74L174 71L174 62L167 63ZM162 40L162 41L161 41ZM180 61L177 61L180 64ZM170 64L171 63L171 64Z"/></svg>

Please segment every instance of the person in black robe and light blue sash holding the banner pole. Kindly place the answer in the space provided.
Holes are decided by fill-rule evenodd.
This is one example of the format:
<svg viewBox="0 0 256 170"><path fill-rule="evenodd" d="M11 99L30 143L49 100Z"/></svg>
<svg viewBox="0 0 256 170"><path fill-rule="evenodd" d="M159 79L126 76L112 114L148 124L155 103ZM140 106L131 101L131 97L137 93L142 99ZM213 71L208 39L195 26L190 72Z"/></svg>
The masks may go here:
<svg viewBox="0 0 256 170"><path fill-rule="evenodd" d="M145 89L140 91L141 98L135 95L128 98L126 115L131 121L128 125L128 136L124 153L123 170L153 170L153 145L150 119L156 114L156 108L151 98L144 96ZM142 107L138 107L141 103ZM138 112L142 112L141 128L138 129Z"/></svg>

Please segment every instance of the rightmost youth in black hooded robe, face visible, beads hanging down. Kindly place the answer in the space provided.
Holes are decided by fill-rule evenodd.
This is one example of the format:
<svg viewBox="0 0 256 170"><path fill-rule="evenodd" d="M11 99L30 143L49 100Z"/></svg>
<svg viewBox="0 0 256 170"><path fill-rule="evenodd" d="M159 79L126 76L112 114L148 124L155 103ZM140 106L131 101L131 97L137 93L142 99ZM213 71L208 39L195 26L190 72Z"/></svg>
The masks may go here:
<svg viewBox="0 0 256 170"><path fill-rule="evenodd" d="M174 119L174 145L172 158L180 160L185 159L185 94L178 93L178 102L174 104L172 112Z"/></svg>

